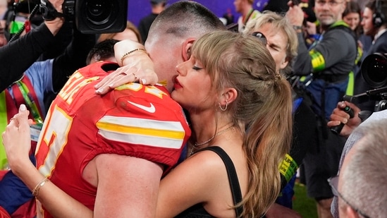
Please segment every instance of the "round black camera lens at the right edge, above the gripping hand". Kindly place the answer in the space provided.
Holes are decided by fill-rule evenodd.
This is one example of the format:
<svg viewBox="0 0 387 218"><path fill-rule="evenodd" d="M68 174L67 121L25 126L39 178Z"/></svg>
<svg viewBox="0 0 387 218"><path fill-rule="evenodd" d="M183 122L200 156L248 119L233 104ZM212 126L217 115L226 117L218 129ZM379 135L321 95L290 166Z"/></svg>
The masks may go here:
<svg viewBox="0 0 387 218"><path fill-rule="evenodd" d="M367 56L362 63L362 76L371 87L386 85L387 57L380 53Z"/></svg>

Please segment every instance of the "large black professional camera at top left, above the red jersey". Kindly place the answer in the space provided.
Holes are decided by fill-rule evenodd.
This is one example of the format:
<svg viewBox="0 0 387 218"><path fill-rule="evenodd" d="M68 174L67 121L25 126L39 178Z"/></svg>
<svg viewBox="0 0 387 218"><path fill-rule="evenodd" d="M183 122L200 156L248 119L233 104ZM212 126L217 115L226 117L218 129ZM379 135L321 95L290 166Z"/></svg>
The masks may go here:
<svg viewBox="0 0 387 218"><path fill-rule="evenodd" d="M49 0L40 0L40 7L45 19L64 16L74 20L85 34L122 32L126 28L127 0L65 0L63 14Z"/></svg>

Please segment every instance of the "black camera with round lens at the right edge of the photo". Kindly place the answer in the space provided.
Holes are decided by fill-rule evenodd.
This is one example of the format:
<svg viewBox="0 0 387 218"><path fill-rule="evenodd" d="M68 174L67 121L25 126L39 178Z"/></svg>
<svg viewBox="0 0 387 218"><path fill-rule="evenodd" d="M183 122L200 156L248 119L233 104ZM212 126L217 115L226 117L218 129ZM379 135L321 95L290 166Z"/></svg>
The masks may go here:
<svg viewBox="0 0 387 218"><path fill-rule="evenodd" d="M372 90L354 96L344 96L344 100L355 104L369 100L379 101L375 111L387 109L387 54L374 53L367 56L361 66L362 77Z"/></svg>

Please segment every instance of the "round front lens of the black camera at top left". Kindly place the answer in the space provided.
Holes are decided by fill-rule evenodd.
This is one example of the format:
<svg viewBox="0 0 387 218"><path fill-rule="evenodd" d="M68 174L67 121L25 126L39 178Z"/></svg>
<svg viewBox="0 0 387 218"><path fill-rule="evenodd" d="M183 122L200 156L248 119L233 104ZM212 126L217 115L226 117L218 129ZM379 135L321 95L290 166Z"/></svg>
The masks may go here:
<svg viewBox="0 0 387 218"><path fill-rule="evenodd" d="M87 1L87 19L95 25L103 25L109 21L112 12L111 1Z"/></svg>

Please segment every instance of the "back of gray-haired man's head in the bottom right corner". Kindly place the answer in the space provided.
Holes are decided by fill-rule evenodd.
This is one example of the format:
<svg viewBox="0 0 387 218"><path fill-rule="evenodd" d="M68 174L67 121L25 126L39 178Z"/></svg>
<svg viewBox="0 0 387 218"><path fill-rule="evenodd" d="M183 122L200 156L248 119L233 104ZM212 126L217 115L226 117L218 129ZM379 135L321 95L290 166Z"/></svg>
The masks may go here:
<svg viewBox="0 0 387 218"><path fill-rule="evenodd" d="M363 123L361 135L346 155L339 176L329 179L338 196L339 217L385 217L387 214L387 119Z"/></svg>

